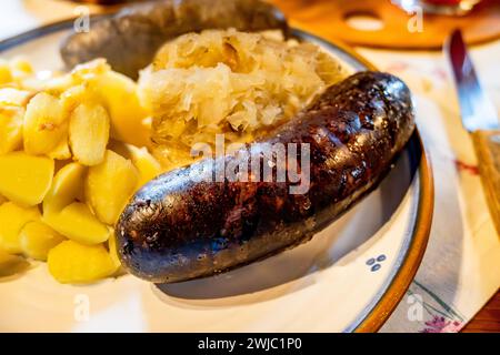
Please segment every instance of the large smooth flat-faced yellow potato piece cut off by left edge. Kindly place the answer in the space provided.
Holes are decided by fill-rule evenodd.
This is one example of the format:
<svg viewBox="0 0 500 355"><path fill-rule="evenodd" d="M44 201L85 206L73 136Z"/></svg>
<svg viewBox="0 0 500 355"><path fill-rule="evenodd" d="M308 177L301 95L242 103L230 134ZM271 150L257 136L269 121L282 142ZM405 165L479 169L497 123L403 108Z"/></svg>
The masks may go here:
<svg viewBox="0 0 500 355"><path fill-rule="evenodd" d="M20 205L39 204L52 184L53 170L53 160L46 156L0 155L0 194Z"/></svg>

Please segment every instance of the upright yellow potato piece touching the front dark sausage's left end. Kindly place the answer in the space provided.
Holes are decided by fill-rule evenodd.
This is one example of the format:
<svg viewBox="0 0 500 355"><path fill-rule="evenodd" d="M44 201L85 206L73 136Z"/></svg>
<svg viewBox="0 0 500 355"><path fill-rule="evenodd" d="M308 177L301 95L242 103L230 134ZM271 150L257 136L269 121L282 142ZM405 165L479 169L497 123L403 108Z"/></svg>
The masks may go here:
<svg viewBox="0 0 500 355"><path fill-rule="evenodd" d="M130 160L106 151L104 161L89 168L86 180L86 197L98 219L114 225L138 181L139 173Z"/></svg>

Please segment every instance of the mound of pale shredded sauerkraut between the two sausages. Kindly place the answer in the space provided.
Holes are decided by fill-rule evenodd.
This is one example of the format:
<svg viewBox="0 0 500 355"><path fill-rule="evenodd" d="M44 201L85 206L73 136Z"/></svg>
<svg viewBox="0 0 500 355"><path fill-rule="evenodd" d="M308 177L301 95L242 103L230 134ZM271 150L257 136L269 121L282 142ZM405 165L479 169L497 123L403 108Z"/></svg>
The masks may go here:
<svg viewBox="0 0 500 355"><path fill-rule="evenodd" d="M208 30L164 44L139 80L152 140L166 164L189 163L194 143L249 142L347 77L312 43Z"/></svg>

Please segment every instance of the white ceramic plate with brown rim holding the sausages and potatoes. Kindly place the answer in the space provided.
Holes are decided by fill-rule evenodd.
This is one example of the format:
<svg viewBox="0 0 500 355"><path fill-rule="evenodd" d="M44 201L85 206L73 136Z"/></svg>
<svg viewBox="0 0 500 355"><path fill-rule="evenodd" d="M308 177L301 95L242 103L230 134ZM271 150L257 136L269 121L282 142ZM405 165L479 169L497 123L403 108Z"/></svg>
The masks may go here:
<svg viewBox="0 0 500 355"><path fill-rule="evenodd" d="M0 42L37 70L62 68L61 22ZM371 68L349 49L304 32L352 71ZM406 292L423 254L432 180L418 133L380 186L311 242L232 272L157 287L131 275L61 285L43 263L0 280L0 331L376 331ZM1 226L0 226L1 227Z"/></svg>

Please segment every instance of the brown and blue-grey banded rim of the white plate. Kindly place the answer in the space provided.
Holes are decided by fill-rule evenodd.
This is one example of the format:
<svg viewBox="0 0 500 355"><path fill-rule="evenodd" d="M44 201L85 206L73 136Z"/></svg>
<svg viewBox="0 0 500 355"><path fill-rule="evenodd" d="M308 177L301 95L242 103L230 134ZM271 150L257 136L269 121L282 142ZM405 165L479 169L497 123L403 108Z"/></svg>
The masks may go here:
<svg viewBox="0 0 500 355"><path fill-rule="evenodd" d="M109 17L109 13L91 16L92 19L106 17ZM74 22L74 20L76 18L63 19L2 39L0 40L0 54L11 48L23 44L33 39L51 34L53 32L67 30L70 27L70 24ZM312 38L317 42L322 42L327 45L340 49L346 54L348 54L348 57L351 57L352 59L357 60L359 63L364 65L368 70L378 71L378 68L373 63L371 63L363 55L356 52L354 49L352 49L351 47L339 40L327 40L322 37L304 31L302 29L297 28L291 29L292 33ZM417 271L419 270L419 266L426 253L432 224L434 183L429 153L426 150L422 138L417 126L413 134L417 144L420 148L420 156L418 156L419 158L418 176L420 186L419 186L417 216L413 223L413 230L411 232L411 242L408 245L406 255L401 264L399 265L392 280L389 282L389 285L387 286L387 290L383 292L380 300L364 315L362 321L360 321L359 324L352 328L352 331L356 333L373 333L382 327L382 325L393 313L393 311L404 296L407 290L409 288L411 282L414 278L414 275L417 274ZM412 138L410 138L410 140Z"/></svg>

